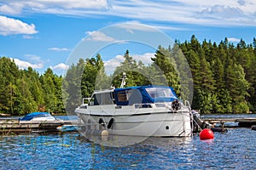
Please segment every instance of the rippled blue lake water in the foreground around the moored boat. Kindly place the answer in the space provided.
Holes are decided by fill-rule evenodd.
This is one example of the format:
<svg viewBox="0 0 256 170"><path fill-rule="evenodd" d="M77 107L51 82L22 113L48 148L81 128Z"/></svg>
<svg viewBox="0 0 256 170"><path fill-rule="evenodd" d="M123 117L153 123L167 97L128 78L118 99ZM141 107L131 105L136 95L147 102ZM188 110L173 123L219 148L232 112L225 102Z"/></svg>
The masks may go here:
<svg viewBox="0 0 256 170"><path fill-rule="evenodd" d="M255 169L256 131L228 130L212 140L195 134L125 147L95 144L79 133L0 136L0 169Z"/></svg>

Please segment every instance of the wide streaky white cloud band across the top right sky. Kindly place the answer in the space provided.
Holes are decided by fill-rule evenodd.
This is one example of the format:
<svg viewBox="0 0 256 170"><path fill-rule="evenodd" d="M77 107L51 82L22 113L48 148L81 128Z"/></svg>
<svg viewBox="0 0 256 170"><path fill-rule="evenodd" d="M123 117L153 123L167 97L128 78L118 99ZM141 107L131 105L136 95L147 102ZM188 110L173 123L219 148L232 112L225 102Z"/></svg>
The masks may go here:
<svg viewBox="0 0 256 170"><path fill-rule="evenodd" d="M237 1L215 0L179 0L179 1L148 1L127 0L111 4L108 14L124 16L136 20L177 22L204 26L256 26L252 14L256 11L253 0L244 0L243 6ZM218 7L219 10L218 10ZM226 12L223 10L227 10ZM202 12L211 14L202 14ZM220 14L218 12L221 12ZM229 18L226 18L225 14ZM236 15L232 15L236 14Z"/></svg>

